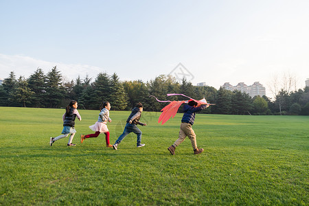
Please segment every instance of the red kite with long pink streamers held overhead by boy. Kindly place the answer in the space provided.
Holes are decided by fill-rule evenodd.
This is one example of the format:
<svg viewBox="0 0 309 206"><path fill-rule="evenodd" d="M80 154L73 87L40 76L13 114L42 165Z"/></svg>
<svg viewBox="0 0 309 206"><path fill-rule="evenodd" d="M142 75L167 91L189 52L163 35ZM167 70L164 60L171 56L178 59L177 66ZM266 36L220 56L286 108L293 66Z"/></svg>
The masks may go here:
<svg viewBox="0 0 309 206"><path fill-rule="evenodd" d="M174 96L174 95L182 95L186 98L189 98L190 100L183 100L183 101L170 101L170 100L165 100L165 101L161 101L161 100L158 100L155 96L150 96L150 97L153 97L153 98L156 98L156 100L158 102L170 102L170 104L166 105L164 108L161 109L161 115L159 117L159 120L158 120L158 123L160 123L162 121L162 125L165 123L165 122L168 122L168 119L170 119L170 117L174 118L179 107L181 106L181 104L183 103L187 103L187 102L190 102L190 101L194 101L194 102L197 102L198 105L197 106L201 106L202 104L207 104L207 107L209 105L214 105L214 104L209 104L207 103L207 101L205 100L205 98L203 98L202 100L194 100L186 95L183 95L182 93L168 93L167 94L168 97L169 96Z"/></svg>

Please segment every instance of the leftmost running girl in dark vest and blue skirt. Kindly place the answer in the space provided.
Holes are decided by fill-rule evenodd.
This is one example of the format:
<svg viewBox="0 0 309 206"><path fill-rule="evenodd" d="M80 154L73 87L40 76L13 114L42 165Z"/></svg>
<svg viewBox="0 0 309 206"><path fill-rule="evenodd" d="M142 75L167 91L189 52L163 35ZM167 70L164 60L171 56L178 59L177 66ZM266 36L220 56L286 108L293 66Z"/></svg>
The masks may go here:
<svg viewBox="0 0 309 206"><path fill-rule="evenodd" d="M65 108L65 114L62 115L63 119L63 130L62 134L58 137L50 137L49 145L52 146L55 141L65 138L68 135L69 141L67 143L67 146L76 146L76 144L72 144L73 137L76 133L76 130L74 128L75 125L75 119L78 117L80 121L82 121L82 117L80 117L80 113L78 113L78 102L75 100L71 100L70 104Z"/></svg>

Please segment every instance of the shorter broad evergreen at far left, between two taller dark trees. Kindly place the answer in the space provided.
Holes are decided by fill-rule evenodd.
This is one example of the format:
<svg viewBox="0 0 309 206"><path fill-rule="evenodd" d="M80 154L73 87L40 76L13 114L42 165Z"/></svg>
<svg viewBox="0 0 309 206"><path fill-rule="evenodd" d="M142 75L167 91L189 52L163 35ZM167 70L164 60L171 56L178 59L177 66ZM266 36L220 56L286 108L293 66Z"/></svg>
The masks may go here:
<svg viewBox="0 0 309 206"><path fill-rule="evenodd" d="M26 106L26 103L30 103L33 91L28 87L28 82L22 76L19 77L17 85L14 91L11 92L11 101L19 102L23 104L23 107Z"/></svg>

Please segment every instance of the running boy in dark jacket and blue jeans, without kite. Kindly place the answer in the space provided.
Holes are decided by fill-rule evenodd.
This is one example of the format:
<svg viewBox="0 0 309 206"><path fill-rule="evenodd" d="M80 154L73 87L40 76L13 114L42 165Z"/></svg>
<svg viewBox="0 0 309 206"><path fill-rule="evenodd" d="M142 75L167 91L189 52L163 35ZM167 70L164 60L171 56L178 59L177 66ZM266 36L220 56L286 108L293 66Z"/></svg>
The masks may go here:
<svg viewBox="0 0 309 206"><path fill-rule="evenodd" d="M143 147L145 144L141 144L141 130L137 127L137 124L141 126L146 126L145 123L139 122L139 119L141 119L141 112L143 111L143 104L140 102L135 105L135 108L133 108L132 112L130 113L128 119L126 120L126 126L124 127L124 133L118 137L115 144L113 144L113 148L117 150L118 145L126 137L126 135L130 133L137 134L137 147Z"/></svg>

